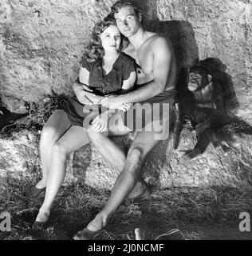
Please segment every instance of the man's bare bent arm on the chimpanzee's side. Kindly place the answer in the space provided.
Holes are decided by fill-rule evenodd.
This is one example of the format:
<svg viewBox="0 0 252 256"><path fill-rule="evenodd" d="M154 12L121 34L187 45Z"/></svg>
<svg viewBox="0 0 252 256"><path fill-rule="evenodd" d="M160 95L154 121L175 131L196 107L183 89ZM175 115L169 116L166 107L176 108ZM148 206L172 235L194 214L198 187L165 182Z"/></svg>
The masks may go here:
<svg viewBox="0 0 252 256"><path fill-rule="evenodd" d="M137 90L117 97L122 103L141 102L163 92L167 85L167 79L171 71L172 50L170 44L163 37L156 38L152 46L153 52L153 76L152 82Z"/></svg>

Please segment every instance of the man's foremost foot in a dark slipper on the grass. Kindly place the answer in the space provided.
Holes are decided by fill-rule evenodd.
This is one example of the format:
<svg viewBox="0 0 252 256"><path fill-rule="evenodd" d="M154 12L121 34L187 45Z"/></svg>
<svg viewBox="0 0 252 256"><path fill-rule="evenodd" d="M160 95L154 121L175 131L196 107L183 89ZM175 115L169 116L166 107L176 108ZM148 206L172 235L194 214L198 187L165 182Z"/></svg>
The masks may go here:
<svg viewBox="0 0 252 256"><path fill-rule="evenodd" d="M96 234L107 225L108 218L103 214L97 214L96 218L84 229L77 232L73 237L74 240L91 240Z"/></svg>

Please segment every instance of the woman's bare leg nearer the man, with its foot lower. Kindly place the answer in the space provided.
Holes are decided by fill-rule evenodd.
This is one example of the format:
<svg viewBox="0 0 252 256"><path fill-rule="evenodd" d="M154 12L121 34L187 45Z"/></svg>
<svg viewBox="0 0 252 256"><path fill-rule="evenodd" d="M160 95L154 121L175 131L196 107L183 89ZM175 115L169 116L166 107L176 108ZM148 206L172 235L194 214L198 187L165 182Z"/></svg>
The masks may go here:
<svg viewBox="0 0 252 256"><path fill-rule="evenodd" d="M81 126L71 126L53 145L51 166L46 182L45 200L39 210L36 221L46 222L53 200L65 178L67 155L89 143L89 136Z"/></svg>

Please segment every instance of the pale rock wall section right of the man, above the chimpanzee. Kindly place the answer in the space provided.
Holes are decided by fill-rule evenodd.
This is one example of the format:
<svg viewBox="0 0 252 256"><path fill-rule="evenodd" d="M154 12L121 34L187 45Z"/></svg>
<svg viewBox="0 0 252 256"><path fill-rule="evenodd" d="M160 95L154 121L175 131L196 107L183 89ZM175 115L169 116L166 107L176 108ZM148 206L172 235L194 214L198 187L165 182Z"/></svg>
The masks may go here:
<svg viewBox="0 0 252 256"><path fill-rule="evenodd" d="M155 4L152 2L152 8L155 6L152 18L161 22L176 20L191 24L200 60L219 58L226 65L226 73L231 76L240 103L238 115L251 122L252 2L158 0ZM191 58L197 57L195 53L187 53L187 58L190 55Z"/></svg>

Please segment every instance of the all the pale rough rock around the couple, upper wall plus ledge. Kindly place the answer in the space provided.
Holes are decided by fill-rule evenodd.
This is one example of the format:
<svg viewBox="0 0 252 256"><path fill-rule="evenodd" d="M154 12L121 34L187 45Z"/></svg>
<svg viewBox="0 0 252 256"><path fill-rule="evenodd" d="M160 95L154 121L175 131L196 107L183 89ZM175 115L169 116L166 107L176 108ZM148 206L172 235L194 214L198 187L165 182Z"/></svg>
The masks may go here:
<svg viewBox="0 0 252 256"><path fill-rule="evenodd" d="M2 0L0 2L0 96L11 111L45 94L71 93L85 42L99 18L115 0ZM237 114L252 124L252 6L248 0L140 0L144 22L167 37L175 48L179 68L198 60L218 58L238 98ZM16 136L16 137L15 137ZM126 139L126 141L125 141ZM121 138L118 143L128 143ZM146 180L156 186L223 185L251 188L252 138L237 138L220 156L209 146L187 166L178 165L179 151L160 143L144 166ZM187 140L180 150L188 149ZM39 167L37 136L14 135L1 140L0 176L28 175ZM27 146L29 145L29 146ZM190 146L189 146L190 147ZM37 168L37 167L36 167ZM35 169L36 169L35 168ZM39 170L37 168L36 171ZM83 179L110 189L116 173L93 147L71 155L69 181ZM104 182L100 182L103 180Z"/></svg>

